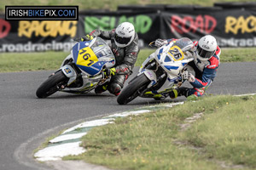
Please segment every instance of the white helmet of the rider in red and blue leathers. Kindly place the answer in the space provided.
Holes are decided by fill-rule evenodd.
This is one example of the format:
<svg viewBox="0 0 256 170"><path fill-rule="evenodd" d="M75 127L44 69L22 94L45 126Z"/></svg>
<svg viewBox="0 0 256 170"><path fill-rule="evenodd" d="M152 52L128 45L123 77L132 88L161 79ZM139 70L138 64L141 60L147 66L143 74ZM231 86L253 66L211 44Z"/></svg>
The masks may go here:
<svg viewBox="0 0 256 170"><path fill-rule="evenodd" d="M216 49L217 42L215 37L212 37L211 35L201 37L196 48L196 56L200 60L211 59Z"/></svg>

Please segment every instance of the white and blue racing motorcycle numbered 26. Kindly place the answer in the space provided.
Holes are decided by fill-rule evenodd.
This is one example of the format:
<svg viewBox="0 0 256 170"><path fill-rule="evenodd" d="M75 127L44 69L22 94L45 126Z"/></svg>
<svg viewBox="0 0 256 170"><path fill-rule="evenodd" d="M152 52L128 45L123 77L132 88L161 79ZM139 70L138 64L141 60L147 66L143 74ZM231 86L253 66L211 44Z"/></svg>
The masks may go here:
<svg viewBox="0 0 256 170"><path fill-rule="evenodd" d="M149 46L156 47L154 42L150 42ZM194 55L195 45L186 37L158 48L143 62L137 77L128 82L117 102L125 105L138 96L165 99L173 88L180 87L184 82L183 71L191 71L187 64L194 59Z"/></svg>

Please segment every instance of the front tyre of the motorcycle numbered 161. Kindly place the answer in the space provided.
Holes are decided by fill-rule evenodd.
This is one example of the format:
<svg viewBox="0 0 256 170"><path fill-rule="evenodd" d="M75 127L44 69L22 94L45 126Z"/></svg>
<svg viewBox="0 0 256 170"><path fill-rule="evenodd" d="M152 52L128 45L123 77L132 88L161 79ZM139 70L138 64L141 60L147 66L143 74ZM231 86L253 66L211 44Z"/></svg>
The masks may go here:
<svg viewBox="0 0 256 170"><path fill-rule="evenodd" d="M38 98L46 98L51 94L55 94L61 85L67 83L67 77L62 71L57 71L53 76L50 76L37 90Z"/></svg>

